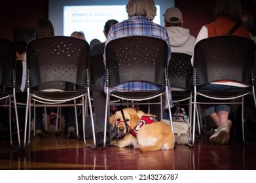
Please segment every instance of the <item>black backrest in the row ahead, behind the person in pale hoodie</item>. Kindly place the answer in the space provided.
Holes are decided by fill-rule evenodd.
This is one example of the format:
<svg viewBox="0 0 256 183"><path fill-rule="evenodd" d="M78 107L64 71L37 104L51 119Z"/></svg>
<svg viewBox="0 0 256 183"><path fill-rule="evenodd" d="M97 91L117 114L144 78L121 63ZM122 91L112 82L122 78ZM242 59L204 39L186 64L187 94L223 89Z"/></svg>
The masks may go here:
<svg viewBox="0 0 256 183"><path fill-rule="evenodd" d="M189 80L193 76L191 55L183 53L172 53L168 65L168 76L172 88L190 90Z"/></svg>

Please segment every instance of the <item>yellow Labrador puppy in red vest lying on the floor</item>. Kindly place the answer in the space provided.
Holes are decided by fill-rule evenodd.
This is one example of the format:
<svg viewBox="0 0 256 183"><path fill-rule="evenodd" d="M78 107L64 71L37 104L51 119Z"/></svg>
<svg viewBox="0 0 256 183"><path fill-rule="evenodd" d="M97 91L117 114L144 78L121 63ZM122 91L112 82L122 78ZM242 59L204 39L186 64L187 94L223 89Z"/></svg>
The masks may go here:
<svg viewBox="0 0 256 183"><path fill-rule="evenodd" d="M109 118L118 133L117 141L111 141L109 145L119 148L132 145L141 152L174 149L174 135L170 125L157 122L155 115L136 111L135 108L124 108L123 112L127 125L120 110Z"/></svg>

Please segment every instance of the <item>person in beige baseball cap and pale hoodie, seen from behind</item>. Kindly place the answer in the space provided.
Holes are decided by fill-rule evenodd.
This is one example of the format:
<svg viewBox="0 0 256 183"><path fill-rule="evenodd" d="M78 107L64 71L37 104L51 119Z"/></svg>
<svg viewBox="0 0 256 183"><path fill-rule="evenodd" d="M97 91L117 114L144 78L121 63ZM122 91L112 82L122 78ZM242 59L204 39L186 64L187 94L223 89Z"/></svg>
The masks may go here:
<svg viewBox="0 0 256 183"><path fill-rule="evenodd" d="M192 55L196 38L182 25L181 10L176 7L168 8L164 13L164 26L168 32L172 52Z"/></svg>

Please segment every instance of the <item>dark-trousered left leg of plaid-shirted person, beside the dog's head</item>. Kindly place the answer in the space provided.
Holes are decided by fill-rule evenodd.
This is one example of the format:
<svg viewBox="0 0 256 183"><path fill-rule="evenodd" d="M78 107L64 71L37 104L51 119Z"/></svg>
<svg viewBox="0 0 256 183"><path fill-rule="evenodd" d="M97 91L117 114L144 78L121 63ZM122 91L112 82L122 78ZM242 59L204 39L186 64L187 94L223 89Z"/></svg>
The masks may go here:
<svg viewBox="0 0 256 183"><path fill-rule="evenodd" d="M106 94L104 91L103 78L96 80L95 84L92 86L93 92L93 105L94 112L96 116L95 120L95 132L97 134L97 146L103 145L103 133L105 126L105 103ZM107 129L108 131L109 129ZM109 143L109 133L107 133L107 143Z"/></svg>

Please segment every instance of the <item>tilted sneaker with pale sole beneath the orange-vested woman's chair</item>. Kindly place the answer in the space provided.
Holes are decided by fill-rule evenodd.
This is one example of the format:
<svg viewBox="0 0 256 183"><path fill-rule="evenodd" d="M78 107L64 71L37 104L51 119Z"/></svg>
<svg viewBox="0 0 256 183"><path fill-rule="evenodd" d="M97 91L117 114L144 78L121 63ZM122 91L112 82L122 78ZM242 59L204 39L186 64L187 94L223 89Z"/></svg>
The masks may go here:
<svg viewBox="0 0 256 183"><path fill-rule="evenodd" d="M223 144L223 140L227 135L229 135L229 126L224 124L217 128L215 133L211 135L209 141L215 142L216 144Z"/></svg>

